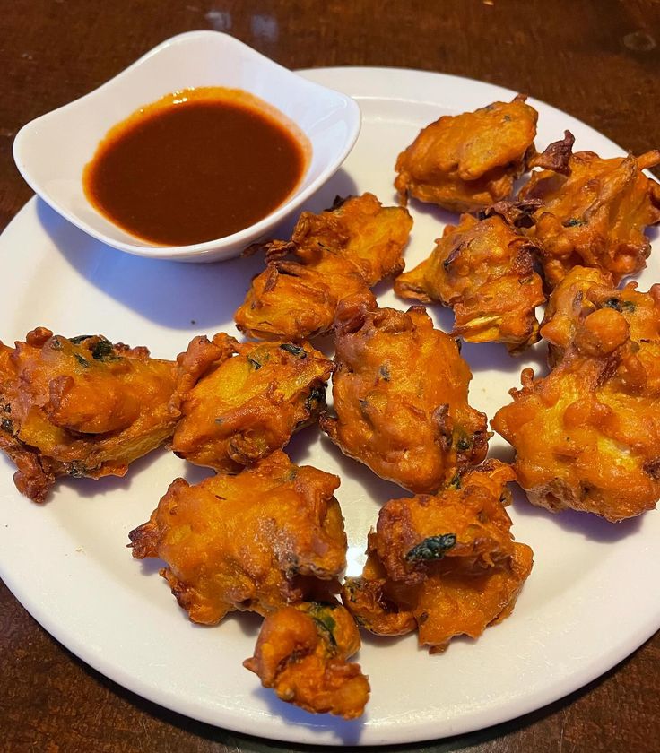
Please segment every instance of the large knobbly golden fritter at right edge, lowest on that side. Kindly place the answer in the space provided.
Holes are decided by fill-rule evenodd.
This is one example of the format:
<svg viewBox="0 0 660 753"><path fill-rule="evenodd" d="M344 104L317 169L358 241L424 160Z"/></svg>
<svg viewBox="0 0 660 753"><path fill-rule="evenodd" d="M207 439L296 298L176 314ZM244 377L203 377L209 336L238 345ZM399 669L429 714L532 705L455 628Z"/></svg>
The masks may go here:
<svg viewBox="0 0 660 753"><path fill-rule="evenodd" d="M557 367L536 380L525 368L522 389L511 390L513 402L491 426L515 447L517 480L532 504L619 521L660 497L659 293L634 285L605 293L587 293ZM629 302L637 307L633 299L645 295L634 322ZM643 320L651 317L654 339L636 342L631 330L650 333ZM560 320L551 325L563 331Z"/></svg>

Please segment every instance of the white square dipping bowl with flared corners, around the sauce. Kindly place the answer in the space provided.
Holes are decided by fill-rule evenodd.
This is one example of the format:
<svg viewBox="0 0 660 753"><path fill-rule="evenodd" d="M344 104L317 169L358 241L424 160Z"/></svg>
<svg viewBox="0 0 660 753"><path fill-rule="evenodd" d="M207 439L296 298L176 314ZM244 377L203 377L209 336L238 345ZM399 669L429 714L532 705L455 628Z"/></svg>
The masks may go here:
<svg viewBox="0 0 660 753"><path fill-rule="evenodd" d="M135 110L182 89L242 89L279 109L311 144L308 168L290 198L263 220L225 238L189 246L160 246L117 227L91 205L83 169L113 125ZM266 238L332 177L360 133L360 108L338 91L308 82L218 31L190 31L158 47L98 89L24 125L13 157L30 187L56 212L94 238L129 254L183 262L237 256Z"/></svg>

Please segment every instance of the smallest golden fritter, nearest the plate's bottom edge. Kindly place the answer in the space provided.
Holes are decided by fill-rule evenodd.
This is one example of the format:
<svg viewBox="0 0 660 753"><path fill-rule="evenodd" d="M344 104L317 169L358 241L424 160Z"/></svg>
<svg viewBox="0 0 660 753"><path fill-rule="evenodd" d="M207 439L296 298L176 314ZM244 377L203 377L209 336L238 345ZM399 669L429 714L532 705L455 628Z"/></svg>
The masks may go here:
<svg viewBox="0 0 660 753"><path fill-rule="evenodd" d="M312 714L356 719L369 700L369 680L348 659L360 633L337 602L301 602L269 614L255 655L243 666L282 701Z"/></svg>

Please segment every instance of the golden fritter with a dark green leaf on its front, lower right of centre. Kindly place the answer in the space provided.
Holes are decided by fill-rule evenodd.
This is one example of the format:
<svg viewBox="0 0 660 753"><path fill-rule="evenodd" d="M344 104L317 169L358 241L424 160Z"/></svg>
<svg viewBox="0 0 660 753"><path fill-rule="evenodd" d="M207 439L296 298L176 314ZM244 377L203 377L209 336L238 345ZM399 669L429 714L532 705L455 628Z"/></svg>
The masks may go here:
<svg viewBox="0 0 660 753"><path fill-rule="evenodd" d="M383 636L417 629L420 645L438 653L454 636L476 638L508 617L533 564L504 509L515 478L489 460L436 496L387 502L362 576L343 585L358 624Z"/></svg>

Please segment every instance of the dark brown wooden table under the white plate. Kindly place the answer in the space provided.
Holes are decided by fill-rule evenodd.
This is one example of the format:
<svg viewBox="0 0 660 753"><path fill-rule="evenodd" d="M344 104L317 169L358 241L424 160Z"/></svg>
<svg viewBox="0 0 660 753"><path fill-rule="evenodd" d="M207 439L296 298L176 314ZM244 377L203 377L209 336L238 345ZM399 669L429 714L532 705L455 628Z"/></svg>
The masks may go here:
<svg viewBox="0 0 660 753"><path fill-rule="evenodd" d="M31 195L11 156L19 127L185 30L229 31L291 68L394 65L494 82L566 110L625 149L660 146L658 0L5 0L1 7L0 229ZM649 593L659 596L660 586ZM196 723L134 696L57 644L2 584L0 678L6 751L300 749ZM658 751L659 694L656 634L603 678L534 714L401 749Z"/></svg>

